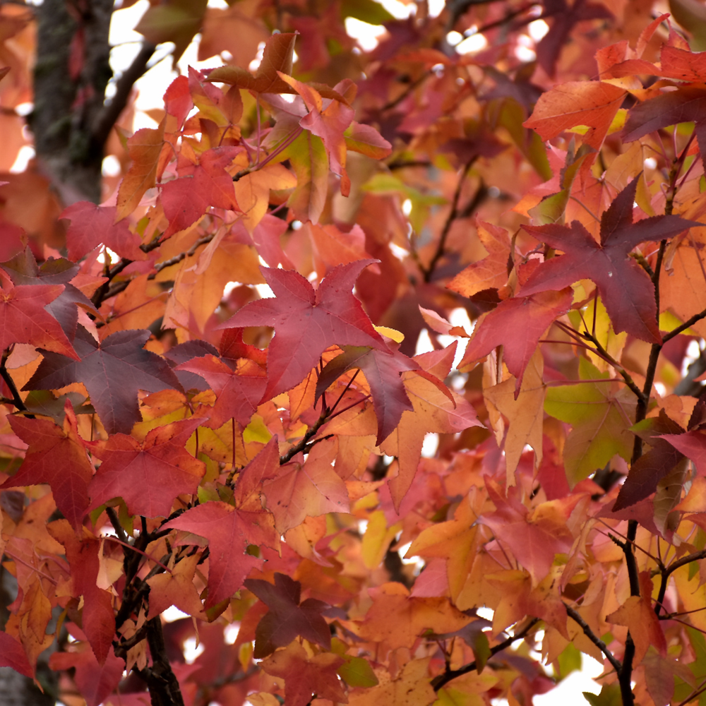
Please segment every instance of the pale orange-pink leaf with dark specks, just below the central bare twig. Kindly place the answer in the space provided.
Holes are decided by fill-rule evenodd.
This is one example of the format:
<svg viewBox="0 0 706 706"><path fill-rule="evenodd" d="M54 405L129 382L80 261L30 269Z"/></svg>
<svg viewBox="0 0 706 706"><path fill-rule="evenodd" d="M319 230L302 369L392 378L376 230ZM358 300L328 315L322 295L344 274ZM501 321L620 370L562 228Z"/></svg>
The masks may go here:
<svg viewBox="0 0 706 706"><path fill-rule="evenodd" d="M323 442L316 445L306 462L295 457L283 465L277 476L263 483L267 508L275 515L277 532L287 532L306 517L349 511L345 483L331 465L334 453Z"/></svg>

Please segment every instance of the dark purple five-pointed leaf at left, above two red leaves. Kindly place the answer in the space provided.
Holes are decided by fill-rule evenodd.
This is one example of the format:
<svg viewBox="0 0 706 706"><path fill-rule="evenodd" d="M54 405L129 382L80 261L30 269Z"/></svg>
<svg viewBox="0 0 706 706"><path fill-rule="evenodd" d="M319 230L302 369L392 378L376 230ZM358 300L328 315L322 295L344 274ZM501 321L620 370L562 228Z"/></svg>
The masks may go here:
<svg viewBox="0 0 706 706"><path fill-rule="evenodd" d="M25 389L83 383L106 431L129 433L142 419L138 390L181 389L167 361L143 348L149 337L148 330L119 331L99 344L79 326L74 340L78 360L47 352Z"/></svg>

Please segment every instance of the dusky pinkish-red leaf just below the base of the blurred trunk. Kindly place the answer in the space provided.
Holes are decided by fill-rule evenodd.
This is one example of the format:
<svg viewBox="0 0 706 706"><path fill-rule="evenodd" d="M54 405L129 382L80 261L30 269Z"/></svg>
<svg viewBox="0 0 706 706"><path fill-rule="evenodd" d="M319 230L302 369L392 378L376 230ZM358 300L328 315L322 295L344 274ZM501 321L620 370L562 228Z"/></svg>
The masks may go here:
<svg viewBox="0 0 706 706"><path fill-rule="evenodd" d="M78 261L104 244L128 260L146 260L138 235L131 232L126 221L115 223L115 217L115 206L99 206L90 201L78 201L65 208L61 218L71 222L66 232L68 258Z"/></svg>

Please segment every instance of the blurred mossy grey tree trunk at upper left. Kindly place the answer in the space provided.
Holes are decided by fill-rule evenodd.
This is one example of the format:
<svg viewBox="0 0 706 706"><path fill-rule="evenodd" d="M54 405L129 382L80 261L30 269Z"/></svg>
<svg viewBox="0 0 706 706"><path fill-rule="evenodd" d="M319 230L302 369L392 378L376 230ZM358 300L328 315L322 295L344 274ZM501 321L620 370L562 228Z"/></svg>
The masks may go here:
<svg viewBox="0 0 706 706"><path fill-rule="evenodd" d="M112 76L112 0L44 0L37 6L35 108L30 126L40 168L65 204L100 201L106 131L96 127Z"/></svg>

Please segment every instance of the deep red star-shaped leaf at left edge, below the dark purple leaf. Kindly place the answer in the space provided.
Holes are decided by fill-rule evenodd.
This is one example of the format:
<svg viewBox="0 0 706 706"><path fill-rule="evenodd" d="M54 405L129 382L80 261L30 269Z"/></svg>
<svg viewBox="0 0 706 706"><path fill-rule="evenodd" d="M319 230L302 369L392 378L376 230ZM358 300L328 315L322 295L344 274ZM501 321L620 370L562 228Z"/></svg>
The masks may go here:
<svg viewBox="0 0 706 706"><path fill-rule="evenodd" d="M66 400L62 426L49 419L8 417L10 426L29 445L20 470L0 487L48 483L56 507L78 530L88 508L88 484L93 466L88 460L85 443L78 436L76 414Z"/></svg>

